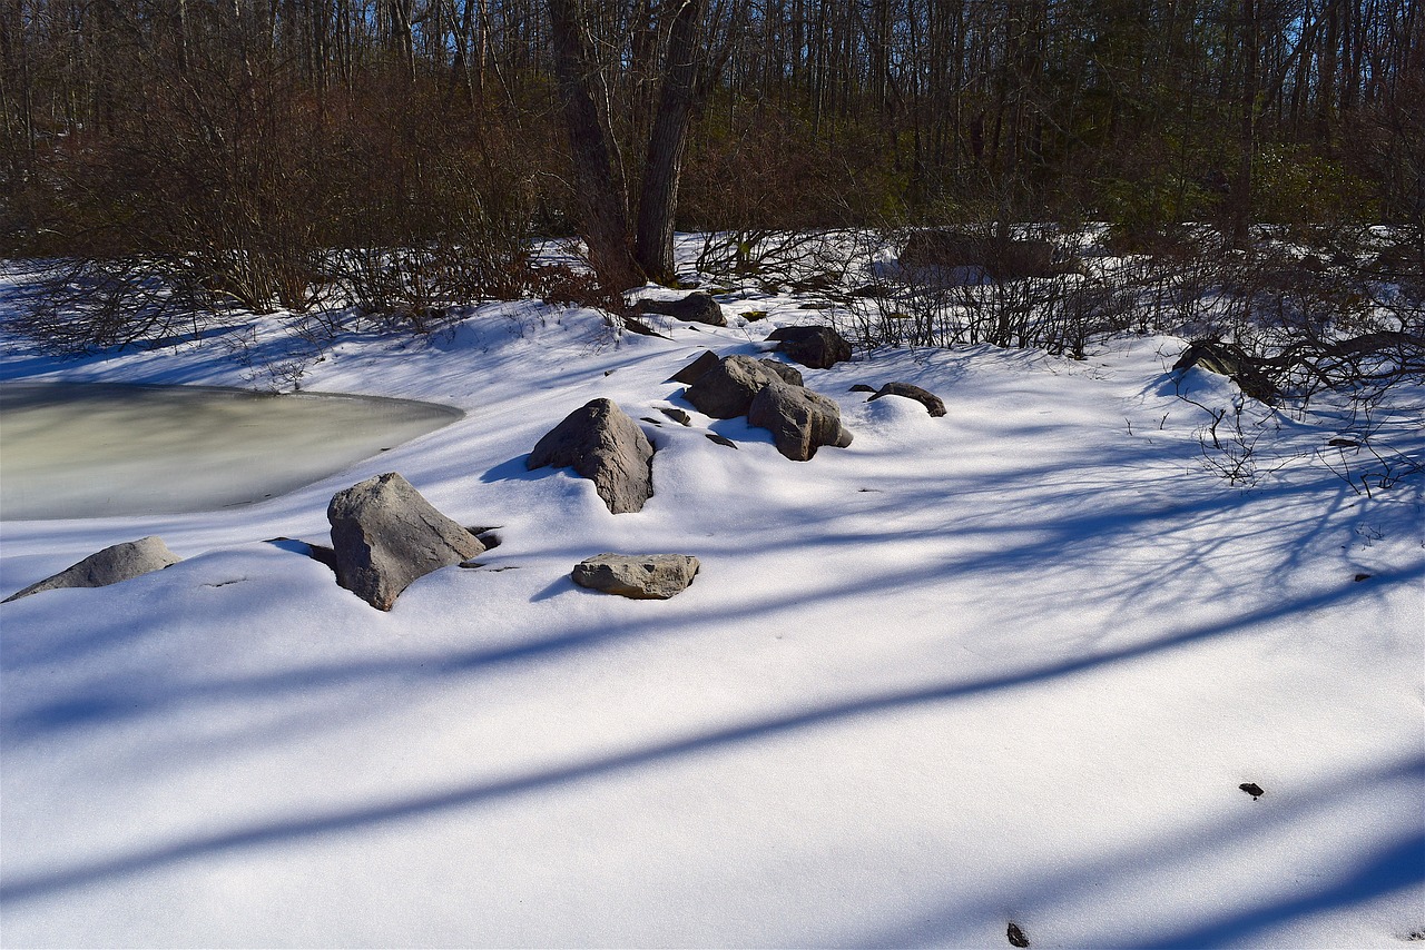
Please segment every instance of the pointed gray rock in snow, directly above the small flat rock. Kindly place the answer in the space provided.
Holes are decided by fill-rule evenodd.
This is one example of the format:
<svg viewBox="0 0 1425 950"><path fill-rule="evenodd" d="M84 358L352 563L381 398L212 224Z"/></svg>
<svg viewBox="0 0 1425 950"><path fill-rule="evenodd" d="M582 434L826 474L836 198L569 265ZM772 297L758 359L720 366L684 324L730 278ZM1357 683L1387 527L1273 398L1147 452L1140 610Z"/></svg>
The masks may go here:
<svg viewBox="0 0 1425 950"><path fill-rule="evenodd" d="M594 483L614 514L641 511L653 497L653 446L608 399L576 409L534 444L526 467L573 469Z"/></svg>

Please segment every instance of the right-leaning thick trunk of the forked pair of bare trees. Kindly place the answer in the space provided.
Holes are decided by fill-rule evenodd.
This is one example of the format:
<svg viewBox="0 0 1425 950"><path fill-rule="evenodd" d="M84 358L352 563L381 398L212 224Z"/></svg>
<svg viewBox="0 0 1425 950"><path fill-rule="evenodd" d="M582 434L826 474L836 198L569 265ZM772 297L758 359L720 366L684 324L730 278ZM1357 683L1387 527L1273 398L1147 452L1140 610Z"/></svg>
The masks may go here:
<svg viewBox="0 0 1425 950"><path fill-rule="evenodd" d="M688 141L698 84L698 26L707 0L683 0L668 33L663 94L648 134L648 158L638 199L634 256L656 281L673 279L673 226L678 207L678 178Z"/></svg>

